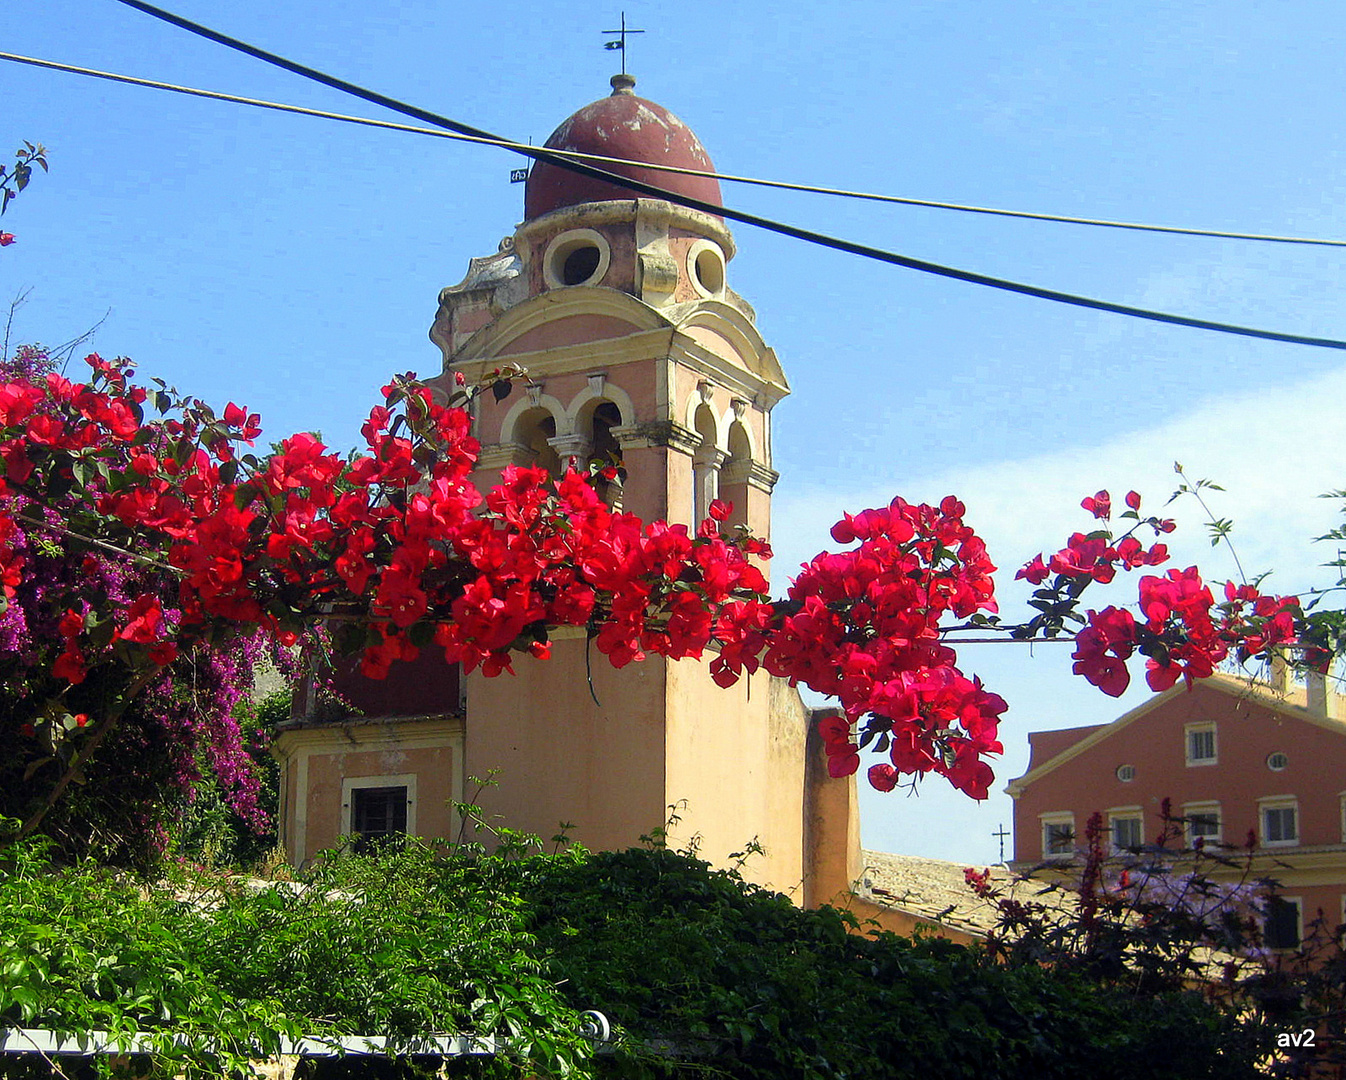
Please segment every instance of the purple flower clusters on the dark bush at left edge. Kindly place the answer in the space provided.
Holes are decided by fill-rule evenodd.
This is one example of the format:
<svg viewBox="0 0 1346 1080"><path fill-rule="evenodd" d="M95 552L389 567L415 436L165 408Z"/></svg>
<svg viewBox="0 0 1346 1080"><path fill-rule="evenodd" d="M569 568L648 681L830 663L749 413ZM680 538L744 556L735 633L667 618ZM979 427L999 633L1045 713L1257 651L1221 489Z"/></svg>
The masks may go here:
<svg viewBox="0 0 1346 1080"><path fill-rule="evenodd" d="M40 378L54 368L40 346L26 346L0 362L0 381ZM23 817L42 803L82 741L127 691L116 681L114 665L101 665L97 676L78 685L52 676L65 644L61 619L74 611L96 632L110 613L147 594L159 598L167 625L175 625L180 613L172 574L65 532L71 521L78 522L74 496L46 506L12 492L8 500L20 528L5 543L23 556L24 574L0 610L0 745L5 747L0 813ZM114 649L116 642L106 648ZM73 850L96 844L113 858L153 858L167 842L166 827L191 801L203 769L214 774L226 804L249 827L268 828L258 778L233 716L253 691L262 648L262 636L253 633L183 649L131 700L116 730L82 769L86 782L62 800L50 831Z"/></svg>

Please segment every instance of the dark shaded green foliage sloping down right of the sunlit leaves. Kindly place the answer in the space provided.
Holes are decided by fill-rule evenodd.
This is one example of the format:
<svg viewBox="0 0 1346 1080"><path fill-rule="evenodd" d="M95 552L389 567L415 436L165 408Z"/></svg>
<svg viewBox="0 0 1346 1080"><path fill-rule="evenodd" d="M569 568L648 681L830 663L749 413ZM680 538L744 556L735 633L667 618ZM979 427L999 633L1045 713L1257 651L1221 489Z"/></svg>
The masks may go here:
<svg viewBox="0 0 1346 1080"><path fill-rule="evenodd" d="M800 910L658 847L541 862L524 889L571 1002L626 1030L611 1062L623 1076L1253 1075L1257 1048L1201 994L1139 997L942 939L860 936L843 912Z"/></svg>

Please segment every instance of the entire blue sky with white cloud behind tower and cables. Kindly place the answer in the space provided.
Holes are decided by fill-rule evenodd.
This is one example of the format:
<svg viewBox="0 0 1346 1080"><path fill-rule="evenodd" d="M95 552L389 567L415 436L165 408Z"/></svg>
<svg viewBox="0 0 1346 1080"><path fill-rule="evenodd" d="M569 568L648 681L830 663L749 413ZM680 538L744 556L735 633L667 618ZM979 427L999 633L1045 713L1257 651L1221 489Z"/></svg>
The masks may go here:
<svg viewBox="0 0 1346 1080"><path fill-rule="evenodd" d="M178 0L174 9L332 74L537 143L607 90L619 8L425 0ZM629 3L637 93L724 172L1082 217L1346 237L1346 7L1329 3ZM381 116L113 0L8 0L7 51ZM0 151L50 176L3 226L16 341L94 345L269 434L353 443L393 370L432 374L437 291L521 215L494 149L357 129L0 63ZM381 116L381 119L397 119ZM1346 250L1140 236L725 186L732 205L1066 292L1346 338ZM1218 479L1245 564L1320 582L1308 537L1346 486L1346 354L1058 307L820 250L747 226L730 284L794 395L775 413L777 580L841 509L957 493L1012 571L1085 525L1109 486L1151 505L1171 463ZM1232 574L1179 505L1182 566ZM1069 649L968 649L1026 733L1135 704L1069 675ZM864 796L874 847L987 862L1008 799L926 785Z"/></svg>

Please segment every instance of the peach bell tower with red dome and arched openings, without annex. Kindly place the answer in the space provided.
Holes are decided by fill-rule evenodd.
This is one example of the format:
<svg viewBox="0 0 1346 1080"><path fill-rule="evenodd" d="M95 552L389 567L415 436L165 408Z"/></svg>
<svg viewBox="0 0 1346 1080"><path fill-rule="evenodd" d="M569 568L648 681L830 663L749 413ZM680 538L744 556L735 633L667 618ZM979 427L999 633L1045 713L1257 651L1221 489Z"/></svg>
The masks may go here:
<svg viewBox="0 0 1346 1080"><path fill-rule="evenodd" d="M615 174L721 205L696 135L614 75L612 93L567 119L546 147L600 155ZM482 490L510 465L553 471L571 459L621 465L604 497L643 520L695 529L711 500L769 537L771 409L789 384L730 287L724 221L534 164L524 222L440 292L431 338L451 381L505 364L528 378L503 401L483 395L475 432ZM712 862L756 839L747 873L790 890L802 877L806 710L765 672L730 689L707 663L651 656L621 671L587 657L583 633L518 675L467 680L466 773L497 772L483 804L551 836L561 821L591 847L627 846L662 825L700 836ZM591 675L588 673L591 672ZM590 679L592 679L592 694Z"/></svg>

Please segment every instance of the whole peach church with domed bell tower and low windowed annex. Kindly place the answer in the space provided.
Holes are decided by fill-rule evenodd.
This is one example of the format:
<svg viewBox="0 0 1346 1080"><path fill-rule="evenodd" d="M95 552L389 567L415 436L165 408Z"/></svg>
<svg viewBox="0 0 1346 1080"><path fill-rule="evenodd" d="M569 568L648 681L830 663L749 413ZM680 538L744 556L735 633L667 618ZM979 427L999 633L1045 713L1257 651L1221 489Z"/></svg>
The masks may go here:
<svg viewBox="0 0 1346 1080"><path fill-rule="evenodd" d="M646 163L610 167L720 205L713 178L647 167L712 168L630 77L546 145ZM475 404L476 486L510 463L615 457L626 478L606 497L622 509L692 527L719 497L769 537L771 411L789 382L731 287L734 253L717 215L536 164L524 222L440 292L431 329L441 385L505 364L528 372L503 401ZM724 863L756 840L765 855L744 873L800 902L860 877L853 778L826 777L810 710L782 680L759 672L721 689L708 663L657 656L618 671L588 654L583 632L559 633L548 661L517 659L514 677L460 679L432 652L382 683L342 679L362 715L297 703L276 742L296 863L342 835L454 836L451 803L466 795L510 828L549 838L571 823L598 848L637 843L673 808L670 843L695 839ZM495 785L474 790L487 776Z"/></svg>

